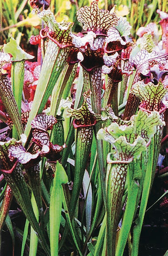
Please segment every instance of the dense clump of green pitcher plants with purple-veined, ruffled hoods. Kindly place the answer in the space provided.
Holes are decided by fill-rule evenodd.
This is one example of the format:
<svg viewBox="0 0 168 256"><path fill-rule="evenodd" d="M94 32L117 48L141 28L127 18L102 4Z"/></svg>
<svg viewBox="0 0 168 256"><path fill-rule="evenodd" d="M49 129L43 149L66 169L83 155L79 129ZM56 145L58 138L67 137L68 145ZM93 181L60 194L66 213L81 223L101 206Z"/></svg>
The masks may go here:
<svg viewBox="0 0 168 256"><path fill-rule="evenodd" d="M31 0L37 58L18 37L0 47L0 230L15 197L27 219L20 255L139 253L167 136L167 16L161 44L140 12L136 41L132 16L131 27L101 4L63 1L54 15L52 1ZM64 8L74 22L60 21Z"/></svg>

